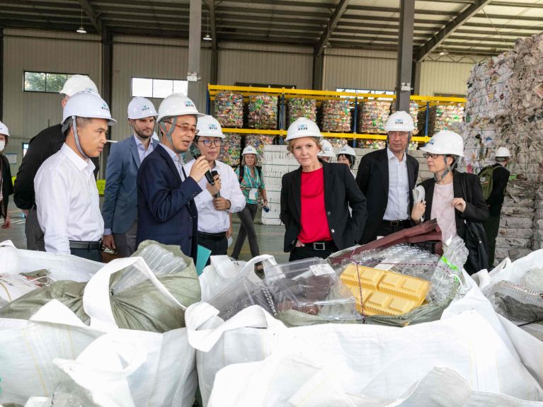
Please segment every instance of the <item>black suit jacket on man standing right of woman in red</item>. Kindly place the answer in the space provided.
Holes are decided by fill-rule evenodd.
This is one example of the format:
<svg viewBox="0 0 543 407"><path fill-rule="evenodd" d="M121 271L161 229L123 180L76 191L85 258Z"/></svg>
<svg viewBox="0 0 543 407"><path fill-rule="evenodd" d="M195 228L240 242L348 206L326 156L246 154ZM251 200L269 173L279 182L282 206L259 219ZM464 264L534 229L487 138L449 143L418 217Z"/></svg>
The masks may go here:
<svg viewBox="0 0 543 407"><path fill-rule="evenodd" d="M415 188L417 182L418 161L409 154L406 154L406 159L409 181L408 213L411 214L413 209L413 194L411 191ZM362 156L358 165L356 183L367 197L367 222L360 240L360 243L364 244L377 238L377 229L383 220L389 202L389 157L387 148L372 151Z"/></svg>

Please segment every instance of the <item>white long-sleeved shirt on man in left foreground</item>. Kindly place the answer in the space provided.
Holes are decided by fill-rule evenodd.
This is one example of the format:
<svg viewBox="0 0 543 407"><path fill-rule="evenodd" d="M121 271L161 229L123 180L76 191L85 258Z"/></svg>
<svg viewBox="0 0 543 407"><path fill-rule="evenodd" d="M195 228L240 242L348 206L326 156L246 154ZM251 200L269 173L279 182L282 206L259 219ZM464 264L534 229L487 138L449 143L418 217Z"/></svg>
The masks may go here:
<svg viewBox="0 0 543 407"><path fill-rule="evenodd" d="M67 144L40 166L34 179L45 251L70 253L69 241L98 241L103 234L94 164Z"/></svg>

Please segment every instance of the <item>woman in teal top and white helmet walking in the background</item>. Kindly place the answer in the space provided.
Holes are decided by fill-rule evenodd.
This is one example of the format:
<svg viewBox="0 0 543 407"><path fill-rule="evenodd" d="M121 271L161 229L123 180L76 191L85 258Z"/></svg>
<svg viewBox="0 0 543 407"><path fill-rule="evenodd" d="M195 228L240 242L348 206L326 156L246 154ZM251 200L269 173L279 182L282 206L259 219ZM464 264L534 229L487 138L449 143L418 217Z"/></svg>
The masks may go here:
<svg viewBox="0 0 543 407"><path fill-rule="evenodd" d="M260 254L258 250L258 241L254 227L256 212L258 211L258 202L262 200L263 206L268 207L268 195L266 194L262 171L256 166L258 163L258 152L253 146L247 146L241 153L241 166L236 169L236 175L239 179L241 192L245 195L245 207L241 212L237 212L241 226L239 227L238 237L232 251L232 258L236 260L239 257L241 248L244 246L245 237L249 241L251 257ZM256 271L262 270L262 265L256 265Z"/></svg>

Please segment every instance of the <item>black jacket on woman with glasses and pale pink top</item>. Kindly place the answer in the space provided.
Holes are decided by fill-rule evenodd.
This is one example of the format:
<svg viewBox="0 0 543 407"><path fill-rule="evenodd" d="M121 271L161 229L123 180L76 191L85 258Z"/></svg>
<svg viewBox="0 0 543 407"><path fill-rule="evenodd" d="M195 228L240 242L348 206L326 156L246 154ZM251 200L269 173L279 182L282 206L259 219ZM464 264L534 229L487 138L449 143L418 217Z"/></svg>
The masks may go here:
<svg viewBox="0 0 543 407"><path fill-rule="evenodd" d="M461 178L464 178L466 184L466 195L462 193ZM432 202L434 195L435 180L428 178L423 180L421 184L425 190L426 210L424 219L429 220L432 216ZM455 197L461 197L466 201L466 209L464 213L455 210L456 230L458 236L462 239L466 238L466 219L471 222L484 222L488 219L488 207L483 197L483 190L479 183L479 177L475 174L459 173L452 171L452 189Z"/></svg>

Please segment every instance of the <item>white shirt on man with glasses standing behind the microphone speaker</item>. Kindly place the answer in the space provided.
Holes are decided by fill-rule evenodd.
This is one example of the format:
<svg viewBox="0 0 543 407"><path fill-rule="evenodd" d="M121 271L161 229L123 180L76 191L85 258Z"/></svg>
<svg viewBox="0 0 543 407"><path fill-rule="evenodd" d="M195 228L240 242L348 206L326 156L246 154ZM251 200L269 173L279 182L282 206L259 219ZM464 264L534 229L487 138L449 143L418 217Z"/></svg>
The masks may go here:
<svg viewBox="0 0 543 407"><path fill-rule="evenodd" d="M195 160L188 161L183 168L185 173L190 173ZM203 177L198 185L202 192L194 198L196 208L198 209L198 231L204 233L219 233L227 231L230 227L230 217L228 212L240 212L245 207L245 195L239 188L239 180L231 166L215 160L215 167L211 171L217 171L221 177L221 197L231 203L229 210L216 210L213 206L213 197L207 190L207 179Z"/></svg>

